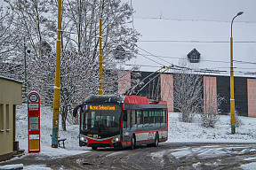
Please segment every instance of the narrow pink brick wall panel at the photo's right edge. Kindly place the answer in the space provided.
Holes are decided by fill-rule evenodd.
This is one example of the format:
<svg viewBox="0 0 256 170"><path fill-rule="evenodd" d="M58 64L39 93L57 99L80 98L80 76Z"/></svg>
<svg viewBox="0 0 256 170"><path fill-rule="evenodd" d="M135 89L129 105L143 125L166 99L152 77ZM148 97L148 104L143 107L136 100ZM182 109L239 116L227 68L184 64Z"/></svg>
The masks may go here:
<svg viewBox="0 0 256 170"><path fill-rule="evenodd" d="M248 117L256 117L256 79L247 79Z"/></svg>

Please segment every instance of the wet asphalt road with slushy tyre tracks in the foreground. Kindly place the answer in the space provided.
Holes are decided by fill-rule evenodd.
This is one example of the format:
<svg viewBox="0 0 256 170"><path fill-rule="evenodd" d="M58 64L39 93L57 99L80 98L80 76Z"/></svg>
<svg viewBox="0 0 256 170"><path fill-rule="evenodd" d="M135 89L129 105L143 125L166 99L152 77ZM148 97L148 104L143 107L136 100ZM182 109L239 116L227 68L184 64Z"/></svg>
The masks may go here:
<svg viewBox="0 0 256 170"><path fill-rule="evenodd" d="M29 154L0 166L21 163L52 169L256 169L256 143L160 143L135 150L99 149L66 158Z"/></svg>

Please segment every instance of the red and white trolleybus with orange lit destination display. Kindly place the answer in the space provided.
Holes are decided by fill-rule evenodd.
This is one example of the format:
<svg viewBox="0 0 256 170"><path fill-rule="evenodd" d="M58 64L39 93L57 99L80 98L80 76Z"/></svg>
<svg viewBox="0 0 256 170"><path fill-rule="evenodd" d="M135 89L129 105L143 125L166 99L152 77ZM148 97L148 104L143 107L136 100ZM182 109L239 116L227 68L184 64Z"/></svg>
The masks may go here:
<svg viewBox="0 0 256 170"><path fill-rule="evenodd" d="M166 102L149 103L147 97L92 95L80 109L79 145L92 147L157 146L167 141Z"/></svg>

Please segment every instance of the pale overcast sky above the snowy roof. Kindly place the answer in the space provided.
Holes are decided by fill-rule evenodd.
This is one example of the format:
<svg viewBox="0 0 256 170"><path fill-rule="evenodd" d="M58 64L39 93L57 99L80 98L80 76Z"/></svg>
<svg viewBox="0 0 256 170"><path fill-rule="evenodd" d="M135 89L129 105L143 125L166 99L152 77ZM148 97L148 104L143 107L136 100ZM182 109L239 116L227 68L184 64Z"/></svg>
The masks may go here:
<svg viewBox="0 0 256 170"><path fill-rule="evenodd" d="M129 2L131 0L122 0ZM205 19L256 22L256 0L132 0L134 18Z"/></svg>

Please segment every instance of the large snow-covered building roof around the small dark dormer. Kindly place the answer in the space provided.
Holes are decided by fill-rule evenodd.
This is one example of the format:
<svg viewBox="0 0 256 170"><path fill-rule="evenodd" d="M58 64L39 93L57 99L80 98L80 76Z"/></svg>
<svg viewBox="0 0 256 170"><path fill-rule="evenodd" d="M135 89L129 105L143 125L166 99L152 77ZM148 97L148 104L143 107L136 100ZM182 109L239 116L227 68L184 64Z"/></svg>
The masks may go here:
<svg viewBox="0 0 256 170"><path fill-rule="evenodd" d="M225 21L134 19L134 28L141 35L139 54L128 63L141 66L141 71L154 72L161 66L179 66L180 60L188 61L188 53L196 49L200 61L189 65L209 74L228 76L230 26ZM256 77L255 30L253 22L233 23L235 76Z"/></svg>

